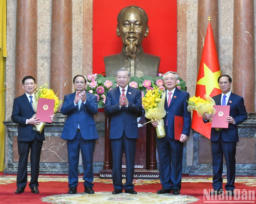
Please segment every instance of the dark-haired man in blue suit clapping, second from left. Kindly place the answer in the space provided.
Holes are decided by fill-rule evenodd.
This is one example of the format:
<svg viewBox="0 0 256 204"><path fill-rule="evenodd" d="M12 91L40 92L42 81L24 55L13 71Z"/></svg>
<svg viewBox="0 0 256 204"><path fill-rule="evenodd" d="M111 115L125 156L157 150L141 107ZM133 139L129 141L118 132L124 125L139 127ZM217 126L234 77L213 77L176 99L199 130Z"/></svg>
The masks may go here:
<svg viewBox="0 0 256 204"><path fill-rule="evenodd" d="M86 79L77 75L73 79L76 92L65 95L60 112L67 115L61 138L68 148L68 194L75 194L78 185L78 161L81 150L84 165L84 193L93 194L92 159L95 141L99 139L94 115L98 112L97 97L85 92Z"/></svg>

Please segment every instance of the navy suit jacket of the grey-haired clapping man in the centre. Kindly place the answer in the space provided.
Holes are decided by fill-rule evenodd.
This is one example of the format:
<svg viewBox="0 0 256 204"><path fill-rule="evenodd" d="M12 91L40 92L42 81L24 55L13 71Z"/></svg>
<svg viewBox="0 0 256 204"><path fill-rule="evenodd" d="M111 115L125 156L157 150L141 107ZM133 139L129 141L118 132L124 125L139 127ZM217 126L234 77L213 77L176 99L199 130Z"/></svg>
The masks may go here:
<svg viewBox="0 0 256 204"><path fill-rule="evenodd" d="M126 98L128 107L119 108L120 89L116 87L107 92L105 112L110 114L109 139L119 139L123 133L128 138L138 138L137 115L142 114L141 91L128 86Z"/></svg>

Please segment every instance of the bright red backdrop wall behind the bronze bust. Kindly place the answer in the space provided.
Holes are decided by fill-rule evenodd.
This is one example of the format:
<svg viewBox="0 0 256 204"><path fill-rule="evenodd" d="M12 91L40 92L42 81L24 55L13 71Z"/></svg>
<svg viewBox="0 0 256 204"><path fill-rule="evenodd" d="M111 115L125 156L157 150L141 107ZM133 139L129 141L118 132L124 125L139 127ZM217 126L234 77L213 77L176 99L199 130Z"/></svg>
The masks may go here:
<svg viewBox="0 0 256 204"><path fill-rule="evenodd" d="M161 57L160 72L177 71L177 0L97 0L93 1L93 73L105 72L104 56L121 52L116 18L129 5L137 5L148 14L144 52Z"/></svg>

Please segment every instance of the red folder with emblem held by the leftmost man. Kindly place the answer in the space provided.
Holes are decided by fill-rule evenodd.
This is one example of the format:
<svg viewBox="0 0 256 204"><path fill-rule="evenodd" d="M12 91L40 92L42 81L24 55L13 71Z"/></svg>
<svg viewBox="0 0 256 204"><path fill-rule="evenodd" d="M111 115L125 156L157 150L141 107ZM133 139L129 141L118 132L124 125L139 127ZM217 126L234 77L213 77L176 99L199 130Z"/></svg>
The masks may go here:
<svg viewBox="0 0 256 204"><path fill-rule="evenodd" d="M50 115L53 115L54 103L54 99L38 98L36 118L40 118L42 122L52 123Z"/></svg>

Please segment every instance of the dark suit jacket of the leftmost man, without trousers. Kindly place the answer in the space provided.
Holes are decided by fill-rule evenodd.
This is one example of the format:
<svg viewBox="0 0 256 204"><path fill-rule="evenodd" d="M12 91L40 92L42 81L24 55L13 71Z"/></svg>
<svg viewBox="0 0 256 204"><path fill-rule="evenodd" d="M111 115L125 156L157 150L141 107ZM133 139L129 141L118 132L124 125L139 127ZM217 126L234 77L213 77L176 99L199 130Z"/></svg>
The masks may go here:
<svg viewBox="0 0 256 204"><path fill-rule="evenodd" d="M34 125L26 125L26 120L33 117L33 111L27 95L17 97L13 101L12 121L18 123L18 141L29 142L36 137L38 141L44 141L44 129L41 133L33 130Z"/></svg>

